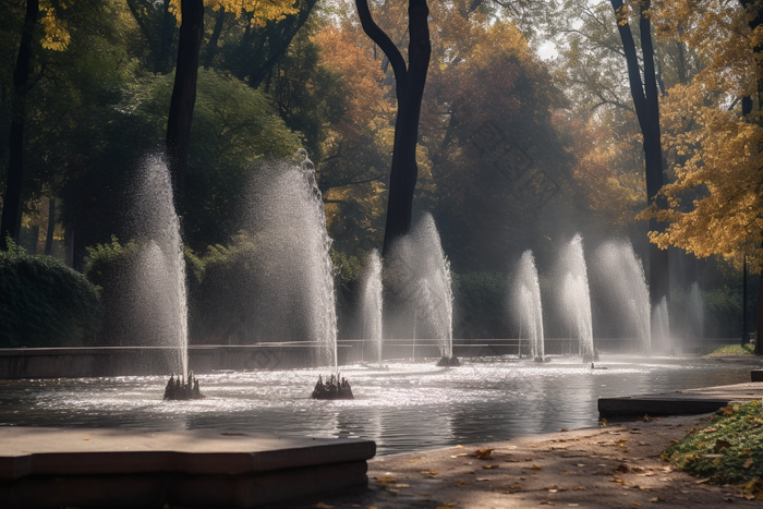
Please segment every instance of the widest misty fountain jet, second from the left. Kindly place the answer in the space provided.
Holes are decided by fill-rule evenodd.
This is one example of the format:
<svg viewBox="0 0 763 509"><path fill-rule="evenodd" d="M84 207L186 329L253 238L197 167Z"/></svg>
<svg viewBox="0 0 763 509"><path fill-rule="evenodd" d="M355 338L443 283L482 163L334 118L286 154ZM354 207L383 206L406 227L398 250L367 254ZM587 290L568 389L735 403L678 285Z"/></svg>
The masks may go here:
<svg viewBox="0 0 763 509"><path fill-rule="evenodd" d="M314 362L338 369L331 238L304 150L300 162L268 162L251 182L244 230L254 245L253 320L261 339L308 340Z"/></svg>

